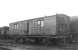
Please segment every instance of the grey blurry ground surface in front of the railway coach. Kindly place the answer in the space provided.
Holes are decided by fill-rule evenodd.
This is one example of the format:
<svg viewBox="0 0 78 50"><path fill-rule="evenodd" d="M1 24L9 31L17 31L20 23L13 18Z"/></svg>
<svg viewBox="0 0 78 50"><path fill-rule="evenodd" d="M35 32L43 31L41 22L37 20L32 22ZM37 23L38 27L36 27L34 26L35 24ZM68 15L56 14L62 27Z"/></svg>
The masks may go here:
<svg viewBox="0 0 78 50"><path fill-rule="evenodd" d="M78 50L78 45L74 44L59 47L59 46L10 44L0 42L0 50Z"/></svg>

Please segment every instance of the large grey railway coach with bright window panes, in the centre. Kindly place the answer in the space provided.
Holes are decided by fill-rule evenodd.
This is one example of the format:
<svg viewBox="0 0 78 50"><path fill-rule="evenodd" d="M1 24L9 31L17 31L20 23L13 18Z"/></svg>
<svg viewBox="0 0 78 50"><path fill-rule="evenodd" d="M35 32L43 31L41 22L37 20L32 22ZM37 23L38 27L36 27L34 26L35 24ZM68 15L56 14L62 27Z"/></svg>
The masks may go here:
<svg viewBox="0 0 78 50"><path fill-rule="evenodd" d="M70 38L70 17L56 14L9 24L9 35L18 42L41 44L67 43Z"/></svg>

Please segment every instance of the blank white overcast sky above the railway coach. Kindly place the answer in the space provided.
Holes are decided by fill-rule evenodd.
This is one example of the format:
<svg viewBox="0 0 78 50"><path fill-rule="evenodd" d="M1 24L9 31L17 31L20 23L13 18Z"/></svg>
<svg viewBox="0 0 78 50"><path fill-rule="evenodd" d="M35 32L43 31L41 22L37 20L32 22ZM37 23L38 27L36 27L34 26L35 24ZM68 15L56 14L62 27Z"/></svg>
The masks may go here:
<svg viewBox="0 0 78 50"><path fill-rule="evenodd" d="M0 0L0 27L56 13L78 15L77 0Z"/></svg>

